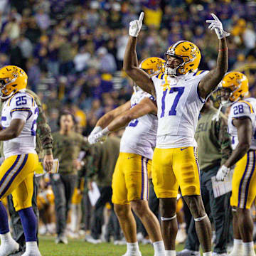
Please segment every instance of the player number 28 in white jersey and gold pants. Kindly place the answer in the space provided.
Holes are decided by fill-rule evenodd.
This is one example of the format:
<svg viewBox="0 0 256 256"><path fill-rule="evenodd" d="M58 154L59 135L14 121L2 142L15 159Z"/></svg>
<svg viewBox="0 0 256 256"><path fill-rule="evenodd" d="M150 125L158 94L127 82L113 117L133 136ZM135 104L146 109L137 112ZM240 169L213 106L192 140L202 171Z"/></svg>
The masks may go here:
<svg viewBox="0 0 256 256"><path fill-rule="evenodd" d="M223 181L235 166L230 205L233 208L234 247L230 256L255 256L250 208L256 197L256 99L249 96L247 77L240 72L225 75L220 85L222 105L231 105L228 132L233 153L220 167Z"/></svg>

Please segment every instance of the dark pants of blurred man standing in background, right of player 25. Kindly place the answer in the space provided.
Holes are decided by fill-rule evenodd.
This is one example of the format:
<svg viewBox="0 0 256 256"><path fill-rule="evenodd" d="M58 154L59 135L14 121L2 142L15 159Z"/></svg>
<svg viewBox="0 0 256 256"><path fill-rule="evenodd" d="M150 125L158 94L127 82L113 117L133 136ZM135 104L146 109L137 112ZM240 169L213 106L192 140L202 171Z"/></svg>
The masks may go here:
<svg viewBox="0 0 256 256"><path fill-rule="evenodd" d="M76 182L77 175L75 174L51 174L50 176L54 193L56 233L58 236L65 234L68 210Z"/></svg>

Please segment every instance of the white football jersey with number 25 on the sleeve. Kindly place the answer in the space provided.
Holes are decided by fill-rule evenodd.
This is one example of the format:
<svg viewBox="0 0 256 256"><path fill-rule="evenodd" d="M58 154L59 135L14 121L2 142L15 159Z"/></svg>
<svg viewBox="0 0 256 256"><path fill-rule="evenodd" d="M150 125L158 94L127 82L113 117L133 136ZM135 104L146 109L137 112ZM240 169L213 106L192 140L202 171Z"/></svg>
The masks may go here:
<svg viewBox="0 0 256 256"><path fill-rule="evenodd" d="M18 154L36 154L36 119L38 106L31 95L17 92L4 102L1 112L1 126L9 127L12 119L23 119L26 123L21 134L14 139L4 141L4 157Z"/></svg>

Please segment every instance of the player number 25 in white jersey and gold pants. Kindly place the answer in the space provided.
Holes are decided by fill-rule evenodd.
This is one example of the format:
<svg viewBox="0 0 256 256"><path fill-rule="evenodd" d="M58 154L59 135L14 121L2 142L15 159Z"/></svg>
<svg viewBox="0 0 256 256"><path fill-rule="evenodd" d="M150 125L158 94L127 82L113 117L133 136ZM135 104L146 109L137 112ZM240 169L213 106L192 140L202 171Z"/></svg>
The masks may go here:
<svg viewBox="0 0 256 256"><path fill-rule="evenodd" d="M26 252L23 256L40 256L36 240L36 215L32 209L33 173L38 166L36 154L36 119L38 107L25 92L28 76L14 65L0 69L1 112L0 140L4 141L4 162L0 166L0 255L18 250L11 237L6 209L1 200L10 193L14 208L21 217Z"/></svg>

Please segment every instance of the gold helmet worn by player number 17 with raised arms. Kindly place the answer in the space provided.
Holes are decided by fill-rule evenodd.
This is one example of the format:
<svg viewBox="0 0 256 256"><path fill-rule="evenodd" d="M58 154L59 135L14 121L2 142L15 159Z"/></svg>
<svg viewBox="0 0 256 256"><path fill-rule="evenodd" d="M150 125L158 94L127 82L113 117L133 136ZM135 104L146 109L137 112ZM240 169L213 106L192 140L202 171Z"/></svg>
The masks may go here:
<svg viewBox="0 0 256 256"><path fill-rule="evenodd" d="M181 60L176 68L170 67L170 57ZM198 47L189 41L178 41L166 51L165 73L167 75L185 75L196 71L201 60L201 52Z"/></svg>

